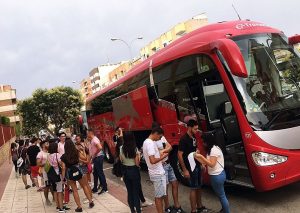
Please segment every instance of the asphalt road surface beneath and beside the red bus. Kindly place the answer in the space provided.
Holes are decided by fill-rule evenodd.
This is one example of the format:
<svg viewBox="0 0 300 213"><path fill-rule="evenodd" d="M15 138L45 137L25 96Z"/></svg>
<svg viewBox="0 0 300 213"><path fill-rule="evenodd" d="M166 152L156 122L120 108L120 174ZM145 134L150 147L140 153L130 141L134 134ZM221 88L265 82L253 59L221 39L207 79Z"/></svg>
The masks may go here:
<svg viewBox="0 0 300 213"><path fill-rule="evenodd" d="M115 177L111 173L111 167L112 164L105 163L104 168L106 168L106 178L124 185L120 178ZM147 171L141 171L141 175L144 196L153 200L153 186L149 180ZM233 213L300 212L300 183L295 183L277 190L263 193L239 186L227 186L225 190L231 212ZM189 189L183 185L179 186L179 200L182 208L186 212L190 212ZM203 204L207 208L215 211L221 209L221 205L210 187L203 188L202 200ZM171 199L170 203L172 203Z"/></svg>

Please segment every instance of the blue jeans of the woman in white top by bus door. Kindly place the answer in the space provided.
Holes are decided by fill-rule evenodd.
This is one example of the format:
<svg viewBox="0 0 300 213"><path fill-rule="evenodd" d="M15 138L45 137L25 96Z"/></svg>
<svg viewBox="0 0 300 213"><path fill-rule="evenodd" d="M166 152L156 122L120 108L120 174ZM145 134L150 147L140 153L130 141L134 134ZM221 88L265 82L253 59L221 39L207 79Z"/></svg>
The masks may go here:
<svg viewBox="0 0 300 213"><path fill-rule="evenodd" d="M226 180L226 174L224 170L219 175L210 175L211 186L221 202L223 212L229 213L230 212L229 203L224 190L225 180Z"/></svg>

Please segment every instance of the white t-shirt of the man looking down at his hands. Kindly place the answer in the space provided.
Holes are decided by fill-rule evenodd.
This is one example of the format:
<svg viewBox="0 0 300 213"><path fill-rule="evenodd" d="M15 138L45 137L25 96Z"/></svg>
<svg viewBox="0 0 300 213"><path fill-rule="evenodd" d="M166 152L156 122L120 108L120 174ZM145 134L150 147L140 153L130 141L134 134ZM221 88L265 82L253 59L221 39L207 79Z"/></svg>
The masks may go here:
<svg viewBox="0 0 300 213"><path fill-rule="evenodd" d="M155 158L159 158L160 157L160 153L158 151L158 148L157 148L157 146L156 146L156 144L155 144L155 142L153 140L147 138L144 141L144 144L143 144L143 155L144 155L144 158L146 160L150 176L158 176L158 175L165 174L165 170L164 170L164 168L162 166L161 161L158 162L158 163L156 163L156 164L150 163L149 156L153 155Z"/></svg>

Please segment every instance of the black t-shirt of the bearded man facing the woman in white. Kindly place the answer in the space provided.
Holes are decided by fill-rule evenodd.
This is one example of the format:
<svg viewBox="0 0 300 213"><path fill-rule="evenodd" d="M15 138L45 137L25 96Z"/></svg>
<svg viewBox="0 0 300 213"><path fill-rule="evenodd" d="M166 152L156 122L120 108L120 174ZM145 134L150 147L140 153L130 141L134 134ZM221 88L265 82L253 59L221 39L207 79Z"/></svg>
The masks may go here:
<svg viewBox="0 0 300 213"><path fill-rule="evenodd" d="M178 151L183 152L183 161L187 170L191 173L191 166L188 160L188 155L197 150L197 140L195 137L191 138L187 133L180 138ZM200 168L200 163L196 161L196 167Z"/></svg>

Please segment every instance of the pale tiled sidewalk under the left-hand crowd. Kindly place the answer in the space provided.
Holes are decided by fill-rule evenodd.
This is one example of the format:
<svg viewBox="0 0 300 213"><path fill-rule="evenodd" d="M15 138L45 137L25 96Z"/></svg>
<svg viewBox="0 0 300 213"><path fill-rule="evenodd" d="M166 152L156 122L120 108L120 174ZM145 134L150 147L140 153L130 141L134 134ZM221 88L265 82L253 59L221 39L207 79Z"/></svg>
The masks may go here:
<svg viewBox="0 0 300 213"><path fill-rule="evenodd" d="M29 179L29 178L28 178ZM30 180L28 183L31 183ZM120 193L124 193L120 189ZM84 198L83 190L79 190L81 198ZM51 195L50 200L52 198ZM109 193L104 195L94 196L95 207L88 208L88 204L83 204L84 212L101 212L101 213L127 213L130 212L127 205L115 198ZM74 212L76 204L73 195L70 194L70 203L68 207L71 208L68 212ZM45 203L44 194L37 192L35 187L25 190L21 178L15 178L15 172L11 171L9 180L7 182L5 191L0 201L0 212L5 213L54 213L56 212L55 204L47 206Z"/></svg>

